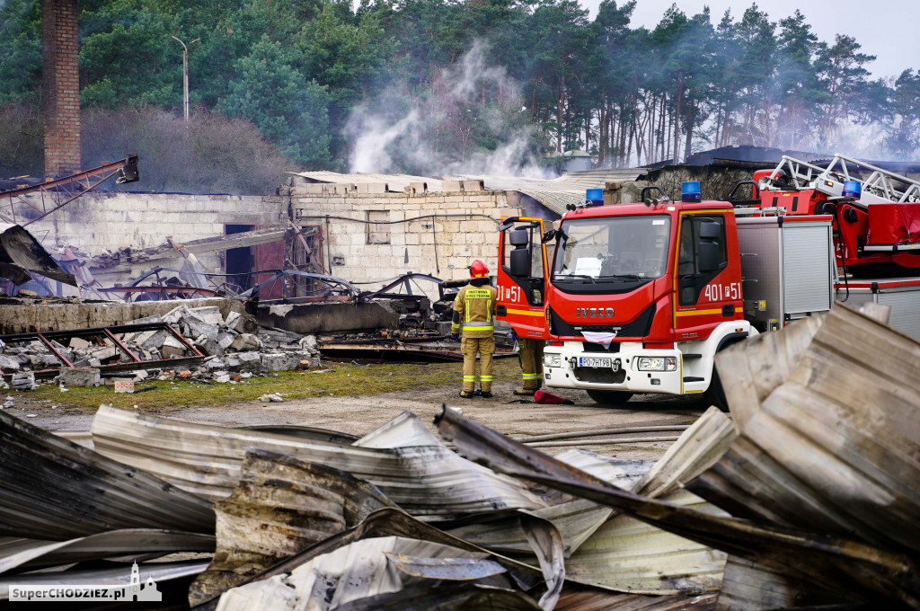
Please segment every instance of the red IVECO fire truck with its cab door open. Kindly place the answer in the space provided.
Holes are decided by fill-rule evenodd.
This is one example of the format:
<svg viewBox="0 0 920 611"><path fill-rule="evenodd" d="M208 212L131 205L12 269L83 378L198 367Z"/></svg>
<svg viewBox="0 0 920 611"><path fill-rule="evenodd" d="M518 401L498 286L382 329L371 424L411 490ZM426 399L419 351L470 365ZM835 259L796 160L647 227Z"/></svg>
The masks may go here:
<svg viewBox="0 0 920 611"><path fill-rule="evenodd" d="M546 386L604 404L639 392L723 404L717 352L834 304L831 215L703 202L698 183L664 195L570 205L552 229L502 220L498 317L546 340Z"/></svg>

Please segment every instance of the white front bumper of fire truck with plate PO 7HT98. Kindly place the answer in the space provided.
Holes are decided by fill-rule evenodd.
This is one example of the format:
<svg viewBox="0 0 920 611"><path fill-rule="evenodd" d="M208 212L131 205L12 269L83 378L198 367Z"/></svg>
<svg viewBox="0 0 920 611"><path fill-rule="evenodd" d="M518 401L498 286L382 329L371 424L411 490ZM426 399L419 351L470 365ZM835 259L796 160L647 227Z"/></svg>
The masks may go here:
<svg viewBox="0 0 920 611"><path fill-rule="evenodd" d="M640 342L621 343L619 352L584 352L581 342L546 346L546 386L680 395L681 353L646 350Z"/></svg>

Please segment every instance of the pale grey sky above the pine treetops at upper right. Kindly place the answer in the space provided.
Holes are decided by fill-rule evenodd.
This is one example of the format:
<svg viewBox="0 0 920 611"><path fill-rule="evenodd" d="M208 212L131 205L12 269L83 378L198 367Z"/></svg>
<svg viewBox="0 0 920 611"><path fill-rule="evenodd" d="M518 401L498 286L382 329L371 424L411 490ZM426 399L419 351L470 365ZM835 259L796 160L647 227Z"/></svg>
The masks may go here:
<svg viewBox="0 0 920 611"><path fill-rule="evenodd" d="M580 0L591 10L593 18L601 0ZM654 28L673 0L638 0L633 13L632 27ZM617 0L617 5L622 4ZM687 15L699 13L709 6L713 25L719 23L725 10L737 21L751 2L731 0L676 0L677 7ZM920 68L920 36L916 25L920 22L920 3L917 0L765 0L758 5L779 21L795 12L796 8L811 24L820 40L834 42L835 34L848 34L862 45L862 51L877 57L868 69L878 77L897 76L906 68Z"/></svg>

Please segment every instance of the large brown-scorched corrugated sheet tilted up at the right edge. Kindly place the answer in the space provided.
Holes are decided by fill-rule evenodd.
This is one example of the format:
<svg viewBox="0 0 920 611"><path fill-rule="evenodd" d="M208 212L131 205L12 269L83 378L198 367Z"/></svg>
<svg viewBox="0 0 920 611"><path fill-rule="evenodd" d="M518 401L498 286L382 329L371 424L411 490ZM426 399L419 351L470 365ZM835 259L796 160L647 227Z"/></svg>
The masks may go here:
<svg viewBox="0 0 920 611"><path fill-rule="evenodd" d="M769 349L738 352L756 366ZM694 490L733 515L920 550L918 371L920 343L834 306Z"/></svg>

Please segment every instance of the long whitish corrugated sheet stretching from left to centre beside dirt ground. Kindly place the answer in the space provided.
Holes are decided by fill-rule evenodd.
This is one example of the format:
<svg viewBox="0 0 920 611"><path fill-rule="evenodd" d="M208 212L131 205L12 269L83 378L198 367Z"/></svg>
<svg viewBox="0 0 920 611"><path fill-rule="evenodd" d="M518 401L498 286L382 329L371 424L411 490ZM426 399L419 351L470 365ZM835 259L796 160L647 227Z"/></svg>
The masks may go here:
<svg viewBox="0 0 920 611"><path fill-rule="evenodd" d="M403 421L408 429L412 418ZM180 422L106 406L99 408L92 431L98 452L215 501L236 487L243 456L248 448L258 447L348 471L417 515L451 518L548 504L512 478L467 461L443 444L363 448Z"/></svg>

